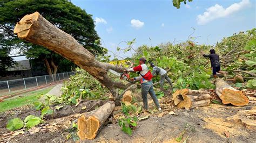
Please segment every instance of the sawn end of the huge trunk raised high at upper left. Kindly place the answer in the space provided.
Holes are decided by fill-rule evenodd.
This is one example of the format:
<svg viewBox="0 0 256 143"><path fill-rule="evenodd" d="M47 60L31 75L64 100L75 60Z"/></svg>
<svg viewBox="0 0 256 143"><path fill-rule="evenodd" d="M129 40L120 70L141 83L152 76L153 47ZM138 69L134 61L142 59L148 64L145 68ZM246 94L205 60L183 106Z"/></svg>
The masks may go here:
<svg viewBox="0 0 256 143"><path fill-rule="evenodd" d="M34 12L30 15L24 16L15 26L14 33L18 35L19 38L25 38L33 24L33 20L37 20L40 16L39 12Z"/></svg>

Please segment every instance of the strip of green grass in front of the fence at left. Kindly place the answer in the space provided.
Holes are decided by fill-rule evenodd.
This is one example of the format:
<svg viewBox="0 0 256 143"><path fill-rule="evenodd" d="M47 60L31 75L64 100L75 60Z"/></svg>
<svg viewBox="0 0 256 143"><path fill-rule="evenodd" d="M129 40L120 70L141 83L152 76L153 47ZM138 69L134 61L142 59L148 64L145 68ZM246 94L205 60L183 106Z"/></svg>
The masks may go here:
<svg viewBox="0 0 256 143"><path fill-rule="evenodd" d="M27 92L17 97L5 99L4 102L0 103L0 112L10 110L13 108L21 107L24 105L33 104L38 101L38 98L42 95L47 94L53 87Z"/></svg>

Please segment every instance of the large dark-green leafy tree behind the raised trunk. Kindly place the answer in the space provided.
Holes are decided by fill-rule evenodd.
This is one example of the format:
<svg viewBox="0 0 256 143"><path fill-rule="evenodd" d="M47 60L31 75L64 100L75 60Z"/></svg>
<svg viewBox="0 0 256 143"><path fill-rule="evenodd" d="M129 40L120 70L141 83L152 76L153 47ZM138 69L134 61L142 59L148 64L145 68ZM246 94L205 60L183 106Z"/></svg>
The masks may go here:
<svg viewBox="0 0 256 143"><path fill-rule="evenodd" d="M102 47L95 45L95 41L99 40L95 31L95 24L92 16L87 14L85 10L73 5L65 0L19 0L19 1L2 1L0 2L0 33L4 35L4 40L8 39L9 46L15 47L19 44L21 52L29 58L41 59L45 62L45 66L49 74L56 74L57 70L64 70L62 65L71 66L72 63L64 61L62 56L55 54L48 49L30 44L26 41L19 40L13 34L14 26L22 17L38 11L41 15L49 20L56 27L69 33L83 47L93 54L103 53ZM60 64L61 63L61 64Z"/></svg>

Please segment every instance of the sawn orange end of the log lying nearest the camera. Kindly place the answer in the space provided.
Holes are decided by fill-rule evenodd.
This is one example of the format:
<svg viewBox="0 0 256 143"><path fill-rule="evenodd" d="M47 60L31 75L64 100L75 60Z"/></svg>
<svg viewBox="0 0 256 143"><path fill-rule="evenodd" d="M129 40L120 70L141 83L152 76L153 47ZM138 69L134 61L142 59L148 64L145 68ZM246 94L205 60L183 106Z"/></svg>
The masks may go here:
<svg viewBox="0 0 256 143"><path fill-rule="evenodd" d="M94 139L100 127L100 121L90 116L86 119L84 116L78 118L78 132L80 139Z"/></svg>

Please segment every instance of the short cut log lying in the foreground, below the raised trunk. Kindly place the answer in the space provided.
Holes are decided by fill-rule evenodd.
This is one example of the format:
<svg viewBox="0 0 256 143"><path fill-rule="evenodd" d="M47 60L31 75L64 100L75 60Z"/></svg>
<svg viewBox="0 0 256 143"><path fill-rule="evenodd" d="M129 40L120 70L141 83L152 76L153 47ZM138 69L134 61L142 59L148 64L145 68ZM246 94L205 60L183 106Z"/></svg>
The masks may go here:
<svg viewBox="0 0 256 143"><path fill-rule="evenodd" d="M94 139L100 127L113 112L114 107L114 102L110 101L78 118L78 137L80 139Z"/></svg>

